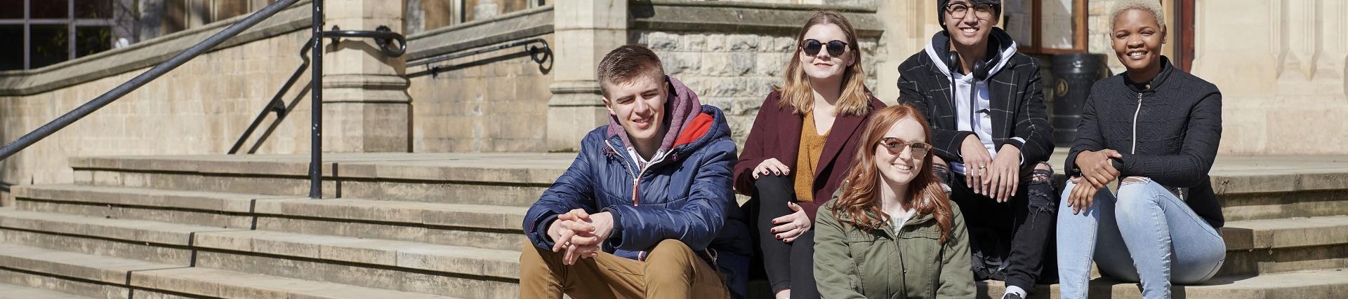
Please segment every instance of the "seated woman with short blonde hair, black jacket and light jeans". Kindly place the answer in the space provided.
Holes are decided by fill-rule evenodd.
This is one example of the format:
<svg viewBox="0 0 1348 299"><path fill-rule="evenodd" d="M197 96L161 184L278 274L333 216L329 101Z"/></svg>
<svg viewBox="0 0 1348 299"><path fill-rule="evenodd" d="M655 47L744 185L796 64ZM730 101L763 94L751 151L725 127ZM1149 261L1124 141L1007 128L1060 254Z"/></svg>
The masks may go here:
<svg viewBox="0 0 1348 299"><path fill-rule="evenodd" d="M1058 213L1062 298L1086 298L1091 260L1100 273L1140 281L1143 298L1208 280L1225 260L1208 178L1221 140L1221 92L1161 55L1159 4L1113 9L1111 40L1128 69L1091 88L1068 155L1072 180ZM1122 179L1117 194L1105 183Z"/></svg>

